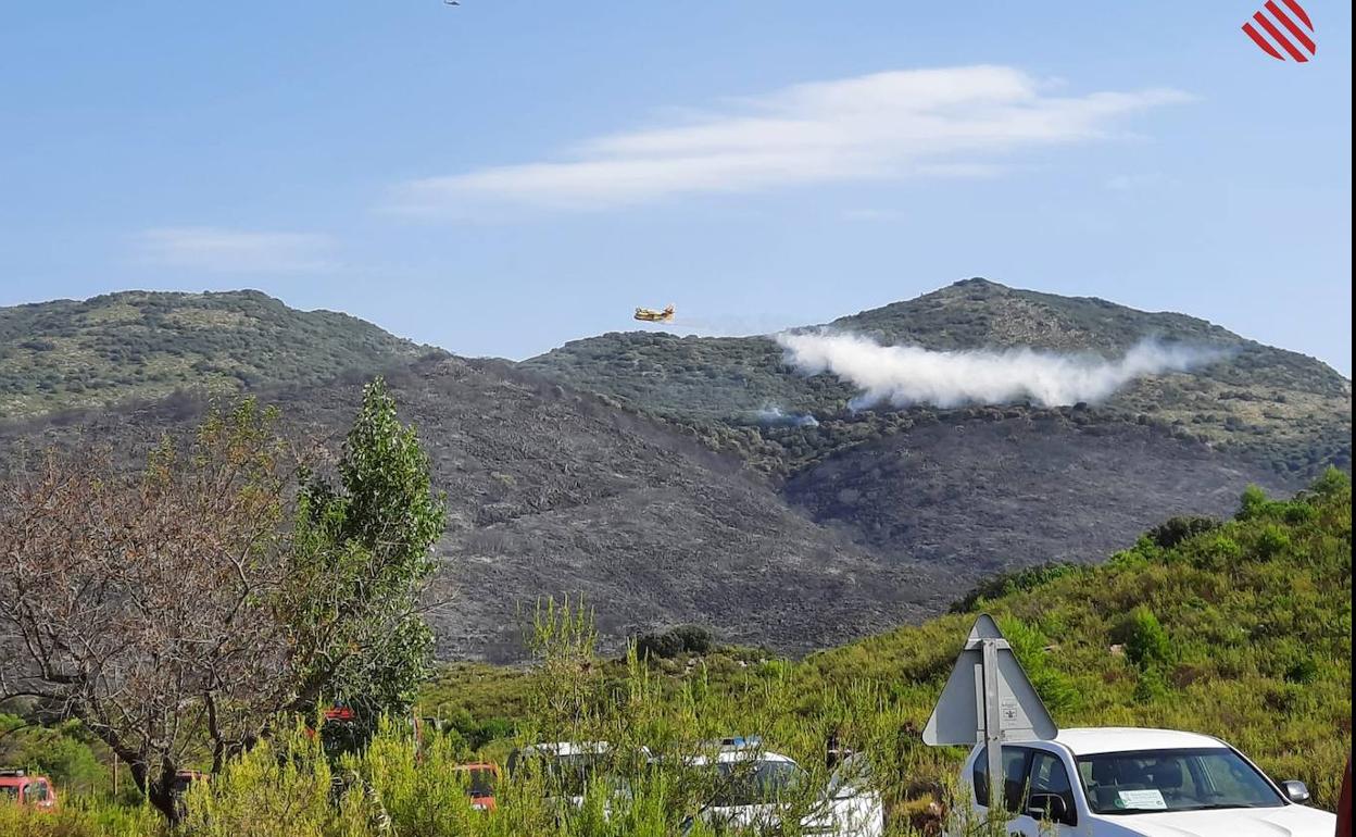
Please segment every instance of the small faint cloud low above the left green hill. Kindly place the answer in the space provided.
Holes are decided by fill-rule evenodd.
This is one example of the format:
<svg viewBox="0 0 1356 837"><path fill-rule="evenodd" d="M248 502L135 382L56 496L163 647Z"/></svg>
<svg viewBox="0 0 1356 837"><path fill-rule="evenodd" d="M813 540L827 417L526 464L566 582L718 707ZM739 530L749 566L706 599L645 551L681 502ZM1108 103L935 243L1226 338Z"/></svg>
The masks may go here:
<svg viewBox="0 0 1356 837"><path fill-rule="evenodd" d="M330 236L220 227L159 227L134 239L140 260L222 273L304 273L335 267Z"/></svg>

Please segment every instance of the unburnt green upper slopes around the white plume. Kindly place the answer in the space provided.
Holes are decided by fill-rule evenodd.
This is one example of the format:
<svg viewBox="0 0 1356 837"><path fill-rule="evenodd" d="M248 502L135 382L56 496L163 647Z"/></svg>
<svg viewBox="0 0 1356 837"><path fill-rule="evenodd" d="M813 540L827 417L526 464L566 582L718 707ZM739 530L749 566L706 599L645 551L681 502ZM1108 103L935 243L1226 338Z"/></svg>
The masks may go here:
<svg viewBox="0 0 1356 837"><path fill-rule="evenodd" d="M1319 361L1196 317L967 279L830 326L932 350L1029 346L1115 357L1142 339L1222 349L1229 355L1205 368L1128 387L1100 406L1098 421L1159 423L1178 435L1242 452L1283 475L1351 467L1351 381ZM565 343L523 366L687 426L708 444L773 473L795 472L900 425L888 407L858 418L848 410L853 387L830 374L796 373L766 336L613 332ZM819 426L761 421L758 412L769 407L814 415ZM845 433L843 423L853 430ZM782 453L788 437L815 454Z"/></svg>

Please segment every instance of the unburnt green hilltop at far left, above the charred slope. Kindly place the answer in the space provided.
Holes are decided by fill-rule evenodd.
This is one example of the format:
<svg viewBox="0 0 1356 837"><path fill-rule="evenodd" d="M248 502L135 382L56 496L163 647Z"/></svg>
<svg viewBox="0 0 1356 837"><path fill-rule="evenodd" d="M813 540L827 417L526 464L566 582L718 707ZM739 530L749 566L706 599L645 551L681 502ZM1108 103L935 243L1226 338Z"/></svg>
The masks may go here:
<svg viewBox="0 0 1356 837"><path fill-rule="evenodd" d="M0 308L0 418L373 372L427 350L254 290L132 290Z"/></svg>

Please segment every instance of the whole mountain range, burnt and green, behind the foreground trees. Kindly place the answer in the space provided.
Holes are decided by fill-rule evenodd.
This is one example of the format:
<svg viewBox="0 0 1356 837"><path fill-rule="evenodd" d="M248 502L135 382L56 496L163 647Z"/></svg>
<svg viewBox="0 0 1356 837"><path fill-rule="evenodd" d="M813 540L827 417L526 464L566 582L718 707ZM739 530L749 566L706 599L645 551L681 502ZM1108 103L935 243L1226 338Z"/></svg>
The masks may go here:
<svg viewBox="0 0 1356 837"><path fill-rule="evenodd" d="M938 293L877 315L872 327L898 330L913 317L914 331L926 326L957 345L978 345L995 328L1025 339L1005 317L1029 298L991 284ZM110 298L81 311L106 312ZM563 374L428 351L361 320L301 316L263 294L206 297L207 315L201 296L151 298L160 305L146 305L149 315L114 307L121 319L92 322L73 319L72 304L57 307L65 316L53 327L57 353L71 340L110 338L100 362L121 364L130 385L106 388L83 408L0 422L0 450L96 442L132 456L165 433L187 433L213 397L245 392L279 408L290 438L332 459L361 384L382 373L447 495L435 593L452 602L431 617L445 658L514 659L521 613L563 593L595 606L605 646L700 623L727 640L801 654L937 613L995 571L1096 560L1166 517L1226 514L1250 483L1287 494L1318 463L1345 456L1349 465L1349 381L1338 376L1334 389L1322 369L1302 365L1317 376L1307 381L1287 372L1299 361L1267 347L1235 355L1246 361L1229 372L1239 381L1158 376L1124 402L852 410L852 385L799 374L767 339L603 335L583 345L587 362ZM183 313L170 316L178 309L168 303L190 303L190 326L180 327ZM0 315L12 335L22 317ZM1066 320L1047 317L1043 327L1048 339L1070 340L1108 316L1121 324L1106 326L1116 332L1106 345L1135 335L1124 323L1138 313L1109 303L1073 304ZM179 326L138 361L148 323L167 317ZM289 330L301 339L283 340ZM184 334L190 345L176 345ZM355 345L338 346L346 335ZM11 343L0 387L31 381L22 366L5 377L16 369ZM251 355L278 343L282 355ZM217 347L216 366L188 364L179 378L159 381L172 384L168 395L138 389L157 353ZM207 385L239 364L244 377ZM1250 383L1254 368L1273 384ZM60 377L60 365L47 369ZM673 381L682 385L666 389ZM777 406L815 419L759 416L766 392L803 399ZM739 404L750 410L732 410L728 393L749 397Z"/></svg>

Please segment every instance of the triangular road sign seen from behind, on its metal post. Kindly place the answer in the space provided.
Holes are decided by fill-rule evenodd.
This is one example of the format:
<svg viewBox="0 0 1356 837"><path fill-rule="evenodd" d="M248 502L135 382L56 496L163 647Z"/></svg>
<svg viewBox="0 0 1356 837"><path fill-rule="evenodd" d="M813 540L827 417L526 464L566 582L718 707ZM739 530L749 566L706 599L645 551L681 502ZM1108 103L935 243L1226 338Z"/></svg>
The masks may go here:
<svg viewBox="0 0 1356 837"><path fill-rule="evenodd" d="M1059 734L1022 671L1013 647L987 613L975 620L946 686L937 699L923 743L984 745L989 809L1003 799L1005 742L1048 741Z"/></svg>

